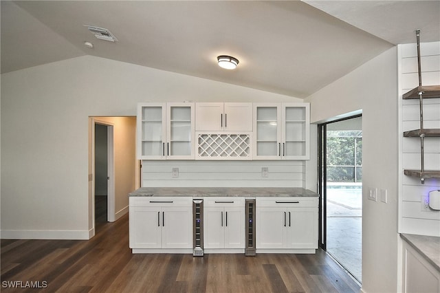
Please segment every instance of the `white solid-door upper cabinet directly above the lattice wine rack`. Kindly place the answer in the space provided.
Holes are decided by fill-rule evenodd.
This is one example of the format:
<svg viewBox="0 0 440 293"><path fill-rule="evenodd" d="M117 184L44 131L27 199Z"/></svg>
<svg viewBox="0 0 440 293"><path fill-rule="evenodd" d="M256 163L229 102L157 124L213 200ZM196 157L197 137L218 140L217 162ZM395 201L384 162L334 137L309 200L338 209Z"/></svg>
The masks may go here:
<svg viewBox="0 0 440 293"><path fill-rule="evenodd" d="M252 102L196 102L195 131L252 131Z"/></svg>

